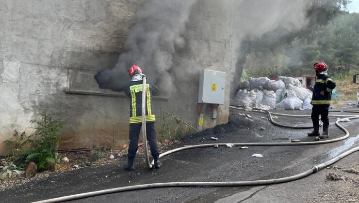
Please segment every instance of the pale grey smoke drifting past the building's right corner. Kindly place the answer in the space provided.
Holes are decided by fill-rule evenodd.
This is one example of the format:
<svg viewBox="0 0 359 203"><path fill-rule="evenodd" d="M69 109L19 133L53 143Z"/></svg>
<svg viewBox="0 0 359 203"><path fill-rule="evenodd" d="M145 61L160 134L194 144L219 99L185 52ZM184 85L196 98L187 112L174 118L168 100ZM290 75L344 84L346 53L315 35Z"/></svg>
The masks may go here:
<svg viewBox="0 0 359 203"><path fill-rule="evenodd" d="M265 33L275 29L283 30L275 37L284 36L291 31L307 25L308 0L240 0L235 5L236 14L233 22L234 47L237 48L237 63L232 72L231 93L235 95L240 85L240 78L245 63L245 53L240 53L243 40L256 40Z"/></svg>

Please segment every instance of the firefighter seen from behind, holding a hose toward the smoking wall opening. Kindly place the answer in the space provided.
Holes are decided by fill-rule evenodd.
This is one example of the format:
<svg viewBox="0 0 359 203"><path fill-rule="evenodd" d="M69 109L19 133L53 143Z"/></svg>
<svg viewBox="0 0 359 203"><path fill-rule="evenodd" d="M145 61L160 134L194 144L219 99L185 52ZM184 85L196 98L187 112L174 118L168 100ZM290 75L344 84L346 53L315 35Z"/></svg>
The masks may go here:
<svg viewBox="0 0 359 203"><path fill-rule="evenodd" d="M125 166L126 171L133 171L133 161L137 152L138 138L142 126L142 70L138 66L131 66L129 70L131 82L125 88L126 95L130 98L130 145L128 154L128 164ZM155 115L152 110L152 94L156 95L158 88L151 82L147 81L146 85L146 132L152 157L155 160L155 168L161 168L159 158L156 131ZM145 141L144 141L145 142Z"/></svg>

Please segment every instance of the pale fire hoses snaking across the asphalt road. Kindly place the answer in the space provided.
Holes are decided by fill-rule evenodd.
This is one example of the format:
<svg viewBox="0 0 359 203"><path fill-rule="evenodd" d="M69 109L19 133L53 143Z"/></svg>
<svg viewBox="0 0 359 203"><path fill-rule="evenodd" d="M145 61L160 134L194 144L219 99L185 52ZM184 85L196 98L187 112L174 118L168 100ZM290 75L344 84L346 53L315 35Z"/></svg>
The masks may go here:
<svg viewBox="0 0 359 203"><path fill-rule="evenodd" d="M238 110L245 110L244 108L237 108L237 107L230 107L230 108L238 109ZM286 114L271 113L269 111L260 111L260 110L252 110L252 111L268 114L268 116L270 118L270 121L272 123L275 123L275 122L273 121L273 118L272 118L271 115L289 116L289 117L308 117L308 115L298 115L297 116L297 115L286 115ZM142 114L142 115L145 115L145 114ZM246 145L246 146L317 145L317 144L326 144L326 143L337 142L337 141L340 141L340 140L343 140L343 139L346 139L347 137L349 137L349 131L347 131L343 126L341 126L339 124L339 122L343 121L344 119L349 119L350 120L350 119L359 118L359 115L346 115L346 116L343 116L343 115L330 115L330 116L345 117L345 118L342 118L342 119L338 119L335 122L336 126L338 128L340 128L342 131L345 132L344 136L336 138L336 139L325 140L325 141L317 141L317 142L302 142L302 143L233 143L233 145L235 145L235 146L243 146L243 145ZM283 125L283 126L285 126L285 125ZM292 127L293 126L285 126L285 128L292 128ZM307 127L305 127L305 128L307 128ZM144 140L144 142L145 142L145 140ZM181 151L181 150L192 149L192 148L200 148L200 147L213 147L214 145L226 146L227 143L203 144L203 145L192 145L192 146L179 147L179 148L176 148L176 149L173 149L173 150L170 150L170 151L167 151L167 152L164 152L164 153L160 154L160 158L163 157L163 156L166 156L168 154ZM87 198L87 197L93 197L93 196L97 196L97 195L105 195L105 194L110 194L110 193L115 193L115 192L123 192L123 191L138 190L138 189L148 189L148 188L163 188L163 187L234 187L234 186L258 186L258 185L285 183L285 182L290 182L290 181L294 181L294 180L304 178L304 177L306 177L306 176L308 176L310 174L314 174L314 173L318 172L319 170L326 168L327 166L335 163L338 160L343 159L344 157L346 157L349 154L352 154L352 153L354 153L356 151L359 151L359 146L354 147L354 148L352 148L352 149L340 154L339 156L337 156L337 157L335 157L335 158L333 158L331 160L328 160L328 161L326 161L324 163L312 166L306 172L296 174L296 175L292 175L292 176L288 176L288 177L283 177L283 178L266 179L266 180L250 180L250 181L224 181L224 182L150 183L150 184L127 186L127 187L120 187L120 188L111 188L111 189L103 189L103 190L98 190L98 191L93 191L93 192L86 192L86 193L81 193L81 194L68 195L68 196L64 196L64 197L58 197L58 198L53 198L53 199L49 199L49 200L43 200L43 201L39 201L39 202L36 202L36 203L65 202L65 201L71 201L71 200L82 199L82 198ZM148 151L147 151L147 153L148 153ZM147 158L148 158L148 155L147 155ZM151 165L152 164L153 164L153 161L152 161Z"/></svg>

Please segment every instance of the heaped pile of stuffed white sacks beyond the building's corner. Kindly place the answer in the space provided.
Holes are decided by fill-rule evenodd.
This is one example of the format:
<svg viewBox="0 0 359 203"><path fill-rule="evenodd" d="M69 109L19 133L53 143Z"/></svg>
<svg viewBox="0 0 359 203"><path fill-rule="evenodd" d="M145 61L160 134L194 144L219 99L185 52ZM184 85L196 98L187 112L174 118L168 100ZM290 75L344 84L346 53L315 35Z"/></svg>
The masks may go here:
<svg viewBox="0 0 359 203"><path fill-rule="evenodd" d="M312 92L303 88L293 77L279 76L277 81L267 77L249 78L246 89L237 92L231 102L240 106L255 106L262 109L310 110Z"/></svg>

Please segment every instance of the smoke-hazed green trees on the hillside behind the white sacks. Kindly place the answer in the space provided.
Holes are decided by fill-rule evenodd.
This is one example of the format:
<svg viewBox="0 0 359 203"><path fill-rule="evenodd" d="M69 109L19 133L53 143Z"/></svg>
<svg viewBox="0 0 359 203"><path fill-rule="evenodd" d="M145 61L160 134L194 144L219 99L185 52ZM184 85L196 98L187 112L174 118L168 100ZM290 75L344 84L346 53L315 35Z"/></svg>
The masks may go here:
<svg viewBox="0 0 359 203"><path fill-rule="evenodd" d="M359 14L349 14L349 0L313 0L308 25L298 31L282 28L242 44L243 70L250 77L313 75L312 66L324 61L329 75L344 79L359 73ZM330 5L328 7L328 5Z"/></svg>

